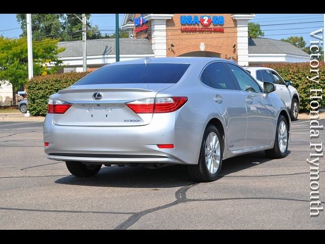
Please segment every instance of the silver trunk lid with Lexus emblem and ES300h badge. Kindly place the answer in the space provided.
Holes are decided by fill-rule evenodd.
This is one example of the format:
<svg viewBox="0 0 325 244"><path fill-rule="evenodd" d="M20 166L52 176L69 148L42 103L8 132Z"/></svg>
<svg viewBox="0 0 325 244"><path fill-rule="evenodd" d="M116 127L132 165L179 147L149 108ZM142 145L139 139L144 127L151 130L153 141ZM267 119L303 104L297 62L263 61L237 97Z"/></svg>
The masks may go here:
<svg viewBox="0 0 325 244"><path fill-rule="evenodd" d="M156 94L174 84L96 84L76 85L59 90L53 97L72 104L64 114L53 114L60 126L143 126L150 123L152 113L137 114L126 103ZM102 98L95 100L94 93Z"/></svg>

